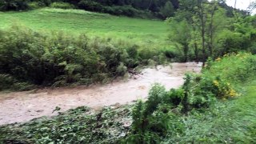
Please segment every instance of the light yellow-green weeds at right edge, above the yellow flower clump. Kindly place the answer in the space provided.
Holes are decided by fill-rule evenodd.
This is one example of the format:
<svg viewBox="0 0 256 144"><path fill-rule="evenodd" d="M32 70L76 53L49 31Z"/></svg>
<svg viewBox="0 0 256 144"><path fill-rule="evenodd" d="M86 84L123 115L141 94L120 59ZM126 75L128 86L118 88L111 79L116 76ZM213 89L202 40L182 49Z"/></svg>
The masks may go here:
<svg viewBox="0 0 256 144"><path fill-rule="evenodd" d="M255 56L250 53L226 54L223 58L217 58L206 67L206 76L219 77L231 84L240 84L254 77L256 68ZM221 73L219 73L221 71Z"/></svg>

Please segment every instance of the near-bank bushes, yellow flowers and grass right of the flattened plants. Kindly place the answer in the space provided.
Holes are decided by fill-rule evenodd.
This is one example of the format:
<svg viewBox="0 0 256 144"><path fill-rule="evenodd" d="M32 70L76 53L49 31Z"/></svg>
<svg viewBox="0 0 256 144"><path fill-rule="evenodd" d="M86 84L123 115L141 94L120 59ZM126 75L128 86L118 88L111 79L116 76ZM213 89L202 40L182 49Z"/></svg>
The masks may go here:
<svg viewBox="0 0 256 144"><path fill-rule="evenodd" d="M187 74L181 89L166 91L163 86L154 86L148 100L134 106L132 133L126 142L255 142L254 111L251 110L256 102L252 93L255 90L249 83L251 102L249 106L242 106L248 98L239 89L246 80L251 82L254 78L254 62L256 57L251 54L232 54L211 62L201 75ZM230 70L226 70L231 63ZM241 98L238 97L241 94ZM245 112L246 118L238 109ZM244 123L247 118L252 118L248 125Z"/></svg>

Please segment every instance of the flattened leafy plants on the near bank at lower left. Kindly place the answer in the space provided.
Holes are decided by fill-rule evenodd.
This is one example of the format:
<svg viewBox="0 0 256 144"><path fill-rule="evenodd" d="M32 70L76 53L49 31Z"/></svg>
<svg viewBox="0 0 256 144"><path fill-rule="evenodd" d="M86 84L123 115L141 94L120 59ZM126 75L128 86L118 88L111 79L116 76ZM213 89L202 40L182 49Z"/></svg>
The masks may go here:
<svg viewBox="0 0 256 144"><path fill-rule="evenodd" d="M0 126L0 142L115 143L129 131L129 116L129 106L112 106L98 111L81 106L50 119Z"/></svg>

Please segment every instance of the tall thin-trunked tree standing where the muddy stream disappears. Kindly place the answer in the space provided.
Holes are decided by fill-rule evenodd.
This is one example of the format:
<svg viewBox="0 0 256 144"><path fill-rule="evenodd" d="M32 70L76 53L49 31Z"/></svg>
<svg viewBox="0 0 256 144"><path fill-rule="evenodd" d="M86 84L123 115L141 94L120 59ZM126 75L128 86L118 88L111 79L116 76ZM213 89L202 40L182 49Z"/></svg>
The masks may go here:
<svg viewBox="0 0 256 144"><path fill-rule="evenodd" d="M226 10L219 5L221 0L181 0L174 19L178 22L186 19L189 23L190 48L194 48L195 60L206 62L206 58L215 57L214 49L218 45L218 32L229 26ZM199 58L201 56L201 58Z"/></svg>

